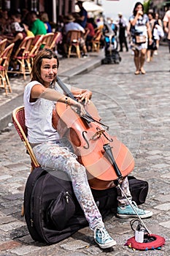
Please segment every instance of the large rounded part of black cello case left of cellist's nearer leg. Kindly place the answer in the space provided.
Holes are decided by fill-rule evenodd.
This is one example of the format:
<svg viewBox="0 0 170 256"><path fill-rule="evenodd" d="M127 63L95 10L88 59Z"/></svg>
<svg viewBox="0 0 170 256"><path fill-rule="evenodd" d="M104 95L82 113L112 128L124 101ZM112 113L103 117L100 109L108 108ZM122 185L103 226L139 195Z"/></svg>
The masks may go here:
<svg viewBox="0 0 170 256"><path fill-rule="evenodd" d="M47 244L55 244L88 225L66 174L51 174L41 167L28 176L24 211L31 237Z"/></svg>

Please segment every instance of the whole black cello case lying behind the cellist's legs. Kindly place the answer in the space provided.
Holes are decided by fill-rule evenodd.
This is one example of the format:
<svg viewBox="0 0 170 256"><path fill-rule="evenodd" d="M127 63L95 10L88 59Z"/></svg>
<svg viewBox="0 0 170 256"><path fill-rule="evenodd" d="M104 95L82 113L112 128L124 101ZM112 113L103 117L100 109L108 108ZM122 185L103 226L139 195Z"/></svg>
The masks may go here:
<svg viewBox="0 0 170 256"><path fill-rule="evenodd" d="M147 197L147 181L133 176L129 179L133 200L144 203ZM102 217L117 207L115 187L91 189ZM88 226L82 208L77 202L66 173L58 170L47 172L36 167L28 176L24 192L24 210L28 231L34 241L55 244Z"/></svg>

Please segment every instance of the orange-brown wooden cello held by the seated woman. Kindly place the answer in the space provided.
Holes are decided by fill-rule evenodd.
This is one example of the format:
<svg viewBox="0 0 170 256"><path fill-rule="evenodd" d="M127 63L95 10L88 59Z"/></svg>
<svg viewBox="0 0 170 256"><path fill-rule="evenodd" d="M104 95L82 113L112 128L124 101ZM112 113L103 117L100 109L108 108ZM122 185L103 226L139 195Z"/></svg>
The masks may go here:
<svg viewBox="0 0 170 256"><path fill-rule="evenodd" d="M56 81L66 96L77 100L60 78ZM80 116L72 107L56 102L53 127L61 137L69 139L78 162L86 168L92 189L115 187L134 170L134 157L116 136L109 135L109 127L101 123L93 102L85 105L85 110L85 116Z"/></svg>

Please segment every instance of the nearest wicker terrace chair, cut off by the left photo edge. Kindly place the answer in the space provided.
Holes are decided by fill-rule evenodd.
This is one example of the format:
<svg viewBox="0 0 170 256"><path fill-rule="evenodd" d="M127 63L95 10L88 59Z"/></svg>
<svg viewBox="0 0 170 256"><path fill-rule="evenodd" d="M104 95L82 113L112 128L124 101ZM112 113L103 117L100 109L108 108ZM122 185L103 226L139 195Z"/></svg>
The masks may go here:
<svg viewBox="0 0 170 256"><path fill-rule="evenodd" d="M1 76L0 87L4 88L6 95L8 94L8 91L12 92L7 71L8 71L9 61L10 61L13 47L14 47L14 42L8 45L7 48L4 48L4 51L0 55L0 76Z"/></svg>

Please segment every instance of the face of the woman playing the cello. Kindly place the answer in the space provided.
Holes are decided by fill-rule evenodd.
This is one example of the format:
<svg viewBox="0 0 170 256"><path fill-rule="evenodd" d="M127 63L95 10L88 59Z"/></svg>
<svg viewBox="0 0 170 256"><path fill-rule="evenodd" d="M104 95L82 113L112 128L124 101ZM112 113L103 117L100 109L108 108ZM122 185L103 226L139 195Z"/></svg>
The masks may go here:
<svg viewBox="0 0 170 256"><path fill-rule="evenodd" d="M41 77L45 87L49 87L58 72L57 59L42 59Z"/></svg>

